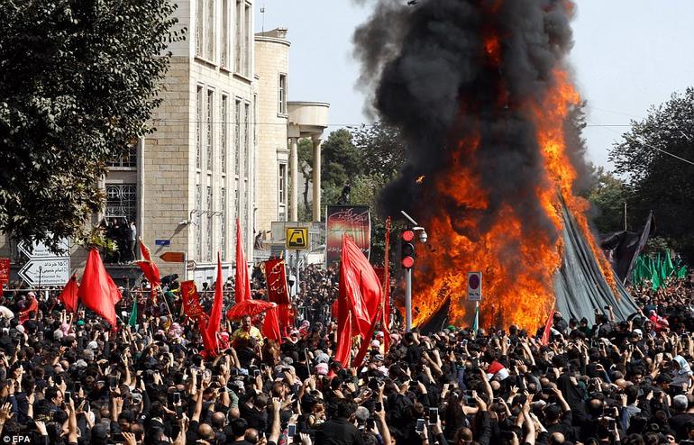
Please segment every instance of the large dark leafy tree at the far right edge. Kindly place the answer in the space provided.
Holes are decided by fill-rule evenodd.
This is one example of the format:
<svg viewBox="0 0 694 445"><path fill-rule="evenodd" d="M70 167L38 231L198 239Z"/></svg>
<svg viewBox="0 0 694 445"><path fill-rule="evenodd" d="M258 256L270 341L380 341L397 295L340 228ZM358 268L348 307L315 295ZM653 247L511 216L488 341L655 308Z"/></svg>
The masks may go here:
<svg viewBox="0 0 694 445"><path fill-rule="evenodd" d="M670 154L667 154L667 151ZM679 157L680 159L675 158ZM694 88L673 94L652 107L641 122L632 122L624 141L610 150L616 173L626 177L629 212L644 221L653 209L658 235L694 260Z"/></svg>

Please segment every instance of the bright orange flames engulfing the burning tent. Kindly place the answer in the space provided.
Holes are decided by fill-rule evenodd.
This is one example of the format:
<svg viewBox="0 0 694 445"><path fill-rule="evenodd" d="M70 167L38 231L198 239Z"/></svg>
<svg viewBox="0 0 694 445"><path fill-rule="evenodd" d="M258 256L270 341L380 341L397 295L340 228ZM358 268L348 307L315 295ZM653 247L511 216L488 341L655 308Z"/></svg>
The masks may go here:
<svg viewBox="0 0 694 445"><path fill-rule="evenodd" d="M498 34L484 34L480 57L487 66L498 67L503 58ZM442 207L457 206L465 213L460 219L443 210L426 217L425 227L433 236L427 248L417 251L415 325L431 317L447 296L452 299L451 322L469 325L472 308L464 304L466 273L476 270L483 273L485 298L479 311L483 326L517 323L534 330L543 324L554 300L553 276L562 263L562 201L579 223L607 282L615 288L607 259L589 230L585 216L588 204L573 192L577 172L567 154L563 126L571 111L580 106L580 95L565 68L555 67L548 84L544 95L527 95L509 104L506 88L499 82L495 87L498 100L493 106L499 115L512 109L534 124L534 138L542 157L542 178L538 181L542 186L534 190L534 198L552 230L528 232L522 215L510 205L494 209L495 214L489 218L489 192L480 186L479 166L475 163L479 129L470 119L474 114L467 114L466 131L452 144L449 167L437 177L427 177ZM470 106L475 104L461 104L463 109Z"/></svg>

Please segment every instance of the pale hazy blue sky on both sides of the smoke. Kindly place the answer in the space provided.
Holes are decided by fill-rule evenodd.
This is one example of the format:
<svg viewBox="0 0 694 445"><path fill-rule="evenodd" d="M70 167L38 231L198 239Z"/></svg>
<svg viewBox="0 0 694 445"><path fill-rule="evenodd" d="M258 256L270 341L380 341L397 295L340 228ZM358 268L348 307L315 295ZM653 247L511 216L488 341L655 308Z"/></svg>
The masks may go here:
<svg viewBox="0 0 694 445"><path fill-rule="evenodd" d="M589 157L606 165L608 147L631 119L694 86L694 1L577 3L571 63L589 101L591 126L584 133ZM352 33L370 6L352 0L256 0L255 9L258 31L263 21L266 31L288 28L289 100L329 102L333 129L367 122L364 97L354 88L359 65L352 59Z"/></svg>

